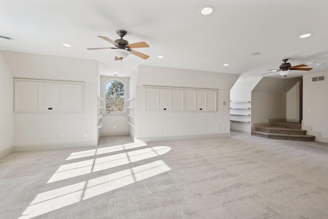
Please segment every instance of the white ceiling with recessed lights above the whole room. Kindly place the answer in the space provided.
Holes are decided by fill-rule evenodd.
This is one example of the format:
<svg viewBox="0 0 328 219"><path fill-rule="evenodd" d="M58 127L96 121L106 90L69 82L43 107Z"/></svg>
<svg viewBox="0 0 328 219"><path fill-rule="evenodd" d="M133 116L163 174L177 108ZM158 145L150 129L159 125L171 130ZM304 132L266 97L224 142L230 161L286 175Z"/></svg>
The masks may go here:
<svg viewBox="0 0 328 219"><path fill-rule="evenodd" d="M0 5L0 35L14 38L0 39L0 50L94 59L102 75L130 76L140 64L246 78L279 68L283 57L291 57L292 66L323 63L288 77L328 70L327 0L0 0ZM201 15L206 6L215 12ZM150 58L130 54L120 67L113 50L87 50L112 47L97 35L114 41L119 29L128 31L129 43L147 42L150 48L134 50ZM303 33L313 36L298 38ZM251 55L255 52L261 54Z"/></svg>

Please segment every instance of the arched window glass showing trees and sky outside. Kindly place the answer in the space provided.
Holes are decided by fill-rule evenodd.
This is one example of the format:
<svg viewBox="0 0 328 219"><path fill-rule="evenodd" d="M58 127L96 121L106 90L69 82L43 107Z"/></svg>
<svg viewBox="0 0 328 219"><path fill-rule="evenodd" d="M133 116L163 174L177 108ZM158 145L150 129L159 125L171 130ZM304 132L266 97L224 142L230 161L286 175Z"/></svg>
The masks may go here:
<svg viewBox="0 0 328 219"><path fill-rule="evenodd" d="M106 111L124 112L124 84L110 81L106 84Z"/></svg>

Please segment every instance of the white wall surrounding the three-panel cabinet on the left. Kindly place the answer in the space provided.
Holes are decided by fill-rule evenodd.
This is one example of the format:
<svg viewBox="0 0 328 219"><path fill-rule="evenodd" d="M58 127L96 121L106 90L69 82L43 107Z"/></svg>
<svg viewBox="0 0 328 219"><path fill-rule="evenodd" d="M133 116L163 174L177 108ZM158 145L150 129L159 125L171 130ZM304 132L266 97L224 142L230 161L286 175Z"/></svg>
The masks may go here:
<svg viewBox="0 0 328 219"><path fill-rule="evenodd" d="M95 61L9 51L3 51L3 55L16 78L85 82L83 113L15 113L15 146L97 145L98 73ZM85 133L89 137L84 137ZM64 139L60 139L60 134L64 134Z"/></svg>

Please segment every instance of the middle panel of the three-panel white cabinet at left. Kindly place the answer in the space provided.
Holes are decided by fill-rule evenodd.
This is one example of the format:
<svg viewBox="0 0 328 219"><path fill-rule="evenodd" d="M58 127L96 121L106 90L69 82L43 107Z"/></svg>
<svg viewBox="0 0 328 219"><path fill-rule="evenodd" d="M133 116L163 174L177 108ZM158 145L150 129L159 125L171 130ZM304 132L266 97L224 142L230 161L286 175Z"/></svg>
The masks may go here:
<svg viewBox="0 0 328 219"><path fill-rule="evenodd" d="M60 85L50 83L39 84L39 110L59 111L60 109Z"/></svg>

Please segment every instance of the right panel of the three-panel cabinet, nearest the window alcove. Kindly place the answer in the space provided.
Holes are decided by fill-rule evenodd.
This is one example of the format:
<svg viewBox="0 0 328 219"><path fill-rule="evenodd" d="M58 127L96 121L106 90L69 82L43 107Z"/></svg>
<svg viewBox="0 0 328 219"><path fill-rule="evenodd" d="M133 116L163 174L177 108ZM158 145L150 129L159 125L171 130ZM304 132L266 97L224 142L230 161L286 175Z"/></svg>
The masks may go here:
<svg viewBox="0 0 328 219"><path fill-rule="evenodd" d="M60 110L82 111L83 85L60 85Z"/></svg>

